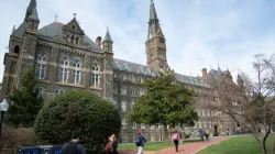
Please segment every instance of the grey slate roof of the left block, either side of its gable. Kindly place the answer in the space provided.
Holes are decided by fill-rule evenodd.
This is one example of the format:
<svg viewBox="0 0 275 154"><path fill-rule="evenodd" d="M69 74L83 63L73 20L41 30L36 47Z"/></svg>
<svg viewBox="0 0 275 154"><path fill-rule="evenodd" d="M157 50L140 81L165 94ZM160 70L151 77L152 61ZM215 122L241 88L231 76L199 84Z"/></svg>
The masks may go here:
<svg viewBox="0 0 275 154"><path fill-rule="evenodd" d="M38 30L38 36L53 40L54 36L57 35L58 37L62 38L63 25L65 24L59 22L53 22L46 26L43 26L42 29ZM91 41L86 34L84 35L84 43L89 45L94 50L101 51L101 48L94 41Z"/></svg>

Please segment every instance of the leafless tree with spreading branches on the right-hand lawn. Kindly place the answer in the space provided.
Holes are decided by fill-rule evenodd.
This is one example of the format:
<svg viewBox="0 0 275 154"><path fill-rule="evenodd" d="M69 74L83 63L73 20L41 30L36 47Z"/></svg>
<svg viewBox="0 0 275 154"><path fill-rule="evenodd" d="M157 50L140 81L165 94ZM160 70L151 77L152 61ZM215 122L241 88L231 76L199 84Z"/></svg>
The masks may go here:
<svg viewBox="0 0 275 154"><path fill-rule="evenodd" d="M253 69L254 78L242 73L238 75L237 82L224 76L210 75L208 82L219 97L219 102L210 107L249 129L261 144L263 153L267 154L265 142L275 117L274 55L255 55Z"/></svg>

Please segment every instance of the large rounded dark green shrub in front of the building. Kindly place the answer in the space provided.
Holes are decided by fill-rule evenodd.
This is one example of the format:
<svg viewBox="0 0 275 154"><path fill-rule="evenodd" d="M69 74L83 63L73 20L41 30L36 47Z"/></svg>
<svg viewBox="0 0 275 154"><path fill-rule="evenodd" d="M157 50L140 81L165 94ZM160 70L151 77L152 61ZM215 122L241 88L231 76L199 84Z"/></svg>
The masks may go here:
<svg viewBox="0 0 275 154"><path fill-rule="evenodd" d="M44 144L63 144L73 130L80 130L80 142L88 150L102 150L108 136L120 132L116 107L89 91L69 91L45 102L34 122L34 131Z"/></svg>

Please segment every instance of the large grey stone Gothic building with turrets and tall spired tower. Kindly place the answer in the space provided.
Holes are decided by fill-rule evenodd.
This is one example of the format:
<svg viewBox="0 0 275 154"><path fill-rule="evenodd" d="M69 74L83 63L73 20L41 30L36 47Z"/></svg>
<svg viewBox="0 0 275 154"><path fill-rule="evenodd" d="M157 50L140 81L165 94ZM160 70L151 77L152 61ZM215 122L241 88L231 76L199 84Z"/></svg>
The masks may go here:
<svg viewBox="0 0 275 154"><path fill-rule="evenodd" d="M141 84L154 77L160 69L170 69L166 58L166 38L153 2L150 6L145 42L147 65L114 58L109 31L107 30L103 40L98 36L94 42L85 34L76 16L65 24L53 22L38 29L40 26L36 0L31 0L22 24L18 29L13 28L10 35L9 53L4 55L2 98L12 92L13 88L20 88L22 75L28 68L35 68L41 96L55 96L78 89L96 92L118 107L122 117L123 142L133 142L138 130L142 130L148 141L163 140L163 125L125 123L127 112L146 90ZM219 68L209 73L220 72ZM202 77L177 74L178 81L185 82L200 97L196 105L200 119L194 128L185 130L194 135L199 129L211 133L213 129L224 132L224 129L234 128L232 122L231 127L228 124L222 128L224 124L216 118L220 113L207 108L209 102L217 101L205 82L209 73L204 68ZM222 73L230 74L228 70Z"/></svg>

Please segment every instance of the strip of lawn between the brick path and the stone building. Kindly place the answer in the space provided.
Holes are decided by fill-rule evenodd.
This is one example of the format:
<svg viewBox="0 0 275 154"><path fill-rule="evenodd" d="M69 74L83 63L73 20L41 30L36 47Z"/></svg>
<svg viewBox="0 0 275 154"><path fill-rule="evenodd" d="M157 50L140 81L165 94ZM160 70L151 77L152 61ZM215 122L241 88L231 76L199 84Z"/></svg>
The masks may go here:
<svg viewBox="0 0 275 154"><path fill-rule="evenodd" d="M184 143L190 143L190 142L198 142L199 140L188 140L184 141ZM144 151L148 152L156 152L163 148L172 147L174 146L174 143L169 142L148 142L145 143ZM128 143L128 144L119 144L119 150L138 150L135 143Z"/></svg>

